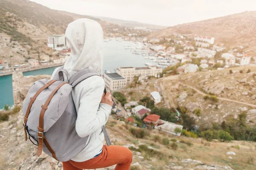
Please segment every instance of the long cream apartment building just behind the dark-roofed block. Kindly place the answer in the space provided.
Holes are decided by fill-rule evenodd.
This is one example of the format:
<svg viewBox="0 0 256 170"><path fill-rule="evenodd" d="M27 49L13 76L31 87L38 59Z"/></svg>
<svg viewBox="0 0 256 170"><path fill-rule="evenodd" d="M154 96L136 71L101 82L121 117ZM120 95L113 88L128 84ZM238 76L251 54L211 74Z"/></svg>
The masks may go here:
<svg viewBox="0 0 256 170"><path fill-rule="evenodd" d="M127 79L127 83L134 81L134 76L157 76L163 72L163 68L157 67L120 67L117 68L116 73L122 75Z"/></svg>

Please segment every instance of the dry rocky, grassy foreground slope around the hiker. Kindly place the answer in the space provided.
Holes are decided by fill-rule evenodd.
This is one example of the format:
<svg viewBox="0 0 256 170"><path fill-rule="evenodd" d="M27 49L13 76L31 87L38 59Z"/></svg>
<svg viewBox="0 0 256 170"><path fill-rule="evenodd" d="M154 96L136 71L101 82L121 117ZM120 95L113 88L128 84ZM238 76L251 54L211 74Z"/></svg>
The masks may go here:
<svg viewBox="0 0 256 170"><path fill-rule="evenodd" d="M13 74L14 96L21 104L29 86L36 79L48 77L23 77ZM0 113L1 114L1 113ZM61 170L61 162L43 153L36 157L37 147L24 141L21 111L0 122L0 170ZM207 142L204 139L175 137L159 130L145 130L142 138L131 133L127 122L110 116L106 124L111 142L129 147L133 151L131 170L253 170L255 169L255 143L245 141ZM134 135L133 135L134 134ZM102 170L113 170L114 167Z"/></svg>

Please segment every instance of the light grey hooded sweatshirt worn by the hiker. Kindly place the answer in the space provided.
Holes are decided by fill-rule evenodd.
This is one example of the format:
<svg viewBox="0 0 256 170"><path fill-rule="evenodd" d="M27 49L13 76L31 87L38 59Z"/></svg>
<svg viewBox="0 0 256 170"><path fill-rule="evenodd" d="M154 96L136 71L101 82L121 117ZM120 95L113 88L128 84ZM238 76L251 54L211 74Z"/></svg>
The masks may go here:
<svg viewBox="0 0 256 170"><path fill-rule="evenodd" d="M85 18L75 20L68 25L65 37L71 48L71 56L64 65L64 69L68 71L68 77L64 77L65 81L83 68L102 72L103 31L99 23ZM86 147L72 158L73 161L92 159L102 149L102 126L107 122L112 108L100 103L104 88L102 77L93 76L83 80L72 90L78 115L76 132L80 137L89 136Z"/></svg>

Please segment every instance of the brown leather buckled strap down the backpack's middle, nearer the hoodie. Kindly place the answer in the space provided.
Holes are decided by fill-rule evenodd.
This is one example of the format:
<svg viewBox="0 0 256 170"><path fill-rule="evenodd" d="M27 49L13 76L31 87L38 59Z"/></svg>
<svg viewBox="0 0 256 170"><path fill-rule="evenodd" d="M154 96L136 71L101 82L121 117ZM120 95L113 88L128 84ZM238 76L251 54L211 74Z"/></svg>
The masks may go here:
<svg viewBox="0 0 256 170"><path fill-rule="evenodd" d="M54 96L54 94L58 91L58 89L61 88L61 86L68 84L68 82L64 82L61 83L60 85L58 85L57 88L55 88L52 93L50 94L50 96L48 97L48 99L46 100L46 102L44 103L44 105L42 105L42 110L39 116L39 126L38 126L38 152L37 152L37 156L40 156L42 154L42 150L43 150L43 143L44 143L44 113L45 111L48 109L47 106L49 105L52 97ZM46 142L48 143L48 142ZM48 143L49 145L49 143ZM48 147L47 147L48 148ZM51 148L51 147L50 147ZM48 148L49 149L49 148ZM52 150L52 149L51 149ZM50 150L49 150L50 151ZM52 150L53 151L53 150ZM50 151L51 152L51 151ZM54 152L54 151L53 151ZM52 152L51 152L52 153ZM55 152L54 152L55 153ZM52 157L54 157L54 155L52 155ZM56 157L56 156L55 156Z"/></svg>

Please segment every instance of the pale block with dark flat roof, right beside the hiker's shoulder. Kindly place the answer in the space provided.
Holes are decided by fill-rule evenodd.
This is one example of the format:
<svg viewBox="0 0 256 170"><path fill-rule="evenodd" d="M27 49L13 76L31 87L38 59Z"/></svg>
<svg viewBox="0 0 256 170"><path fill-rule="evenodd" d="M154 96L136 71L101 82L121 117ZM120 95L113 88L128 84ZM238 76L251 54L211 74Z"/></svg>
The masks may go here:
<svg viewBox="0 0 256 170"><path fill-rule="evenodd" d="M124 88L127 83L127 80L117 73L106 73L103 79L105 80L106 88L111 91Z"/></svg>

